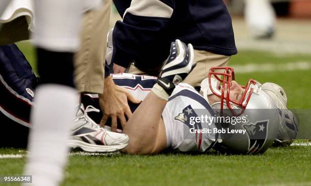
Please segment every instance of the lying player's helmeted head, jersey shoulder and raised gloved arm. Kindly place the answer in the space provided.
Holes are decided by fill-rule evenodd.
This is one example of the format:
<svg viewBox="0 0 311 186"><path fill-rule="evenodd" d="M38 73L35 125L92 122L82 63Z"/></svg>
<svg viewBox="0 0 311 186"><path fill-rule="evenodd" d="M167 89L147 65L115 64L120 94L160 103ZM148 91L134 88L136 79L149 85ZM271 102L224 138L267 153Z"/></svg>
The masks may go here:
<svg viewBox="0 0 311 186"><path fill-rule="evenodd" d="M240 86L234 81L232 68L212 68L201 84L200 95L180 83L194 66L192 52L191 44L172 43L157 83L123 128L130 138L123 152L154 154L167 148L205 152L213 147L229 153L256 154L274 140L291 143L297 125L286 108L282 87L261 85L252 79L245 87ZM229 116L231 123L208 122L201 116ZM232 122L237 116L241 120Z"/></svg>

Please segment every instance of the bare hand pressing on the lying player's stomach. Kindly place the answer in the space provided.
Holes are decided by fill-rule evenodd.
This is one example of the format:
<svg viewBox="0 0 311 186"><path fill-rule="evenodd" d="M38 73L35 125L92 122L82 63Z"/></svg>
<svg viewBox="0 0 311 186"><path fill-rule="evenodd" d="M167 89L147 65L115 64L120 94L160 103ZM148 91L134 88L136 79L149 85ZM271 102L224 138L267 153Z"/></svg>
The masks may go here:
<svg viewBox="0 0 311 186"><path fill-rule="evenodd" d="M127 89L115 85L111 76L105 78L104 94L99 95L99 103L103 111L100 125L103 127L107 119L111 117L112 132L116 132L117 119L120 121L122 128L124 128L127 123L126 116L130 118L132 115L128 100L136 104L141 102L134 98Z"/></svg>

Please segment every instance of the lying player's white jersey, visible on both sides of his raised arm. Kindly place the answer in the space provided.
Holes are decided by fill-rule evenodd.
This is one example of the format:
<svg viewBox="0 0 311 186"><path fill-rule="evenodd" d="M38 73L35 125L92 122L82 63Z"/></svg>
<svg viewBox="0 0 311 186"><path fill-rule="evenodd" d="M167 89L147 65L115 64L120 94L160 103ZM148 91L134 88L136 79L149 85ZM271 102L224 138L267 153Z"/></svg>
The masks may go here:
<svg viewBox="0 0 311 186"><path fill-rule="evenodd" d="M111 75L115 84L129 89L131 94L144 100L152 89L157 77L113 74ZM214 123L208 125L204 122L190 124L191 118L214 116L208 102L189 84L180 83L176 86L173 94L162 113L165 125L167 147L179 151L201 151L211 148L217 136L211 133L198 133L195 130L211 130L215 128Z"/></svg>

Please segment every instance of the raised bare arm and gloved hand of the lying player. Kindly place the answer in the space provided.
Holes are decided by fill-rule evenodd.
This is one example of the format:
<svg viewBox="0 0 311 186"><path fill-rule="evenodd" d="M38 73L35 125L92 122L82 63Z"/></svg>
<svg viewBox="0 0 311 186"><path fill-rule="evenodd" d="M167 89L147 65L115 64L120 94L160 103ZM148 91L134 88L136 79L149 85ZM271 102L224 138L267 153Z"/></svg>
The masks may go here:
<svg viewBox="0 0 311 186"><path fill-rule="evenodd" d="M135 110L123 132L130 138L123 149L131 154L153 154L166 148L166 133L162 112L175 85L193 69L193 47L176 40L171 45L170 56L152 91Z"/></svg>

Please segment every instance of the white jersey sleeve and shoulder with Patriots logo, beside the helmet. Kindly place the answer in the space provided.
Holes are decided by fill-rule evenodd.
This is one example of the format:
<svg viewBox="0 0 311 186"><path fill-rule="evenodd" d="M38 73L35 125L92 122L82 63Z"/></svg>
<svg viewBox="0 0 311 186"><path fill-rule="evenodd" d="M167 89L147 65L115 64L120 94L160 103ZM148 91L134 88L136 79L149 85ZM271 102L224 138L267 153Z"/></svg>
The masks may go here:
<svg viewBox="0 0 311 186"><path fill-rule="evenodd" d="M201 116L214 116L208 102L189 84L177 85L162 113L167 147L200 152L211 148L217 139L212 132L215 125L213 122L209 125L209 122L194 121Z"/></svg>

